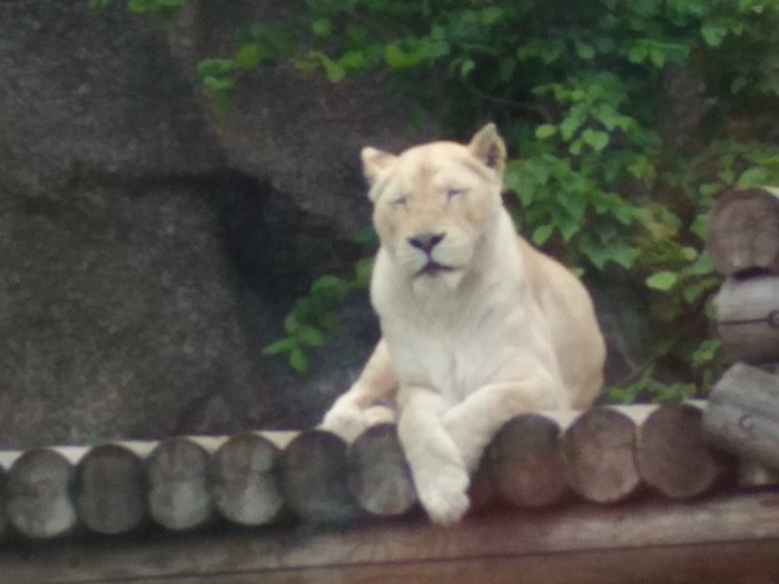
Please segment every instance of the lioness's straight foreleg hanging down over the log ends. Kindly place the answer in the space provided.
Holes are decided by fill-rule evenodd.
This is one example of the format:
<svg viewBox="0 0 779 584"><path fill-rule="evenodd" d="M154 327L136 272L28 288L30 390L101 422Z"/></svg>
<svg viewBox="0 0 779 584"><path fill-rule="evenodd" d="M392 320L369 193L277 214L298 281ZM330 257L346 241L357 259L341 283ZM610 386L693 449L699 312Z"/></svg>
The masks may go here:
<svg viewBox="0 0 779 584"><path fill-rule="evenodd" d="M403 387L398 402L397 434L420 503L434 522L455 523L469 507L470 477L441 418L448 403L424 387Z"/></svg>

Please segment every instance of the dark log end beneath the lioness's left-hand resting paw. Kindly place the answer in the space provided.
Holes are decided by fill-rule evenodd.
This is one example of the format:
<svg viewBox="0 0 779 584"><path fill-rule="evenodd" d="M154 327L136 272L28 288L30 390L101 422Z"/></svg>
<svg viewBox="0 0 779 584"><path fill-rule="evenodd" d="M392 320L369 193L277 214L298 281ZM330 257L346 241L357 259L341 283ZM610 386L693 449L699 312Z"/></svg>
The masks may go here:
<svg viewBox="0 0 779 584"><path fill-rule="evenodd" d="M300 433L282 455L287 506L315 523L342 523L361 514L348 485L347 444L329 432Z"/></svg>

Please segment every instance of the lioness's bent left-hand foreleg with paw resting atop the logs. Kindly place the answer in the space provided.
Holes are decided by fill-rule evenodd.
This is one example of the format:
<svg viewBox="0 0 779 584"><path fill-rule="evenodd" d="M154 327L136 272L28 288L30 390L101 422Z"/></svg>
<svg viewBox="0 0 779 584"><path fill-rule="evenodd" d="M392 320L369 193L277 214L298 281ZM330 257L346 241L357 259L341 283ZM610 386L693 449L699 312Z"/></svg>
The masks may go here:
<svg viewBox="0 0 779 584"><path fill-rule="evenodd" d="M396 385L389 352L386 343L379 340L357 380L331 406L321 427L353 442L368 426L395 422L395 410L376 403L386 398Z"/></svg>

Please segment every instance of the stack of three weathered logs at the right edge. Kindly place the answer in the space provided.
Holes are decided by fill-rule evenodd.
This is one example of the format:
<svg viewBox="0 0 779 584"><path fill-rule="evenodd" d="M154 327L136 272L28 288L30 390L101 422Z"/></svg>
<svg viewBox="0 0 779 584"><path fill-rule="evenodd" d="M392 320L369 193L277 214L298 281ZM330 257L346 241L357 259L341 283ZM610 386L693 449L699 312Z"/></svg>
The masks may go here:
<svg viewBox="0 0 779 584"><path fill-rule="evenodd" d="M779 190L720 195L707 249L726 277L717 333L734 365L711 390L706 430L718 446L779 469Z"/></svg>

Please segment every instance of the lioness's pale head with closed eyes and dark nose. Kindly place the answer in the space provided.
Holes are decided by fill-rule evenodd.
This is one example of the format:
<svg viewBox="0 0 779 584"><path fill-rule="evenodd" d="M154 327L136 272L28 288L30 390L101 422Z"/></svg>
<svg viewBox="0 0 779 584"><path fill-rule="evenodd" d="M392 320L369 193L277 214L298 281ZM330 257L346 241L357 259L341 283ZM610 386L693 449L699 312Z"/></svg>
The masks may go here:
<svg viewBox="0 0 779 584"><path fill-rule="evenodd" d="M362 151L374 225L414 287L456 287L501 207L505 145L495 126L465 146L431 142L392 155Z"/></svg>

